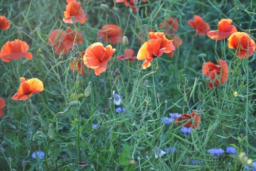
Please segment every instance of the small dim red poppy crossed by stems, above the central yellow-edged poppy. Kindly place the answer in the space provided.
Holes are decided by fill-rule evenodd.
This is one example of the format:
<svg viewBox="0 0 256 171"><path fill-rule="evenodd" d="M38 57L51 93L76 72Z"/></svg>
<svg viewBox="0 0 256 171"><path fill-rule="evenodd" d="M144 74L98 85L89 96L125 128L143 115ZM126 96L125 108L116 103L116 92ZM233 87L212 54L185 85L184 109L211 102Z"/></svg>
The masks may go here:
<svg viewBox="0 0 256 171"><path fill-rule="evenodd" d="M164 22L159 23L161 29L166 29L164 33L173 34L179 28L179 22L174 17L164 19Z"/></svg>

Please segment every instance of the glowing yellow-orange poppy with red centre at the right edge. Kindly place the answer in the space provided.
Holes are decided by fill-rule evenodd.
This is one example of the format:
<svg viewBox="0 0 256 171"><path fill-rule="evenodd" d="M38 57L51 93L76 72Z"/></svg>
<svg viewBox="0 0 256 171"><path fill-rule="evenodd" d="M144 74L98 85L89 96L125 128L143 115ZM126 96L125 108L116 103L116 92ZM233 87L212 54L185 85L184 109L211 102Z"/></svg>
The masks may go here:
<svg viewBox="0 0 256 171"><path fill-rule="evenodd" d="M236 55L243 59L254 54L256 45L254 40L244 32L236 32L227 39L227 46L230 49L237 49Z"/></svg>

